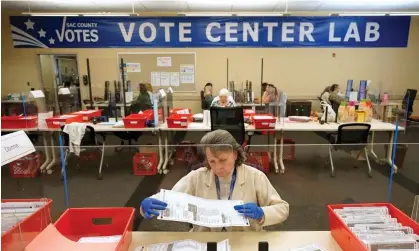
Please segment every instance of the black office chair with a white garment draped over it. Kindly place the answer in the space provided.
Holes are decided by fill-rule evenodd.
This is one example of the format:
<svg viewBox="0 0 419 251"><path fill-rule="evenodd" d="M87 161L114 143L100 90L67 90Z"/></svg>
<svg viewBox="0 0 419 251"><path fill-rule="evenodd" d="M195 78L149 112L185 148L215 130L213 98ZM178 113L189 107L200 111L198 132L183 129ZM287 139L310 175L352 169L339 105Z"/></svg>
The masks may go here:
<svg viewBox="0 0 419 251"><path fill-rule="evenodd" d="M67 159L70 156L70 149L69 149L69 145L70 145L70 136L67 133L63 132L64 130L64 126L61 126L61 135L64 139L64 147L66 147L65 153L64 153L64 163L67 166ZM104 134L100 134L102 136L102 141L99 142L97 140L96 137L96 133L95 133L95 129L91 126L87 126L86 127L86 132L81 140L81 144L80 144L80 154L85 154L87 155L88 152L94 152L95 150L97 150L97 148L95 148L94 146L101 146L100 148L100 152L101 152L101 156L100 156L100 165L99 165L99 172L98 172L98 176L97 179L101 180L103 178L102 176L102 166L103 166L103 156L105 153L105 135ZM85 148L83 148L83 146ZM80 160L80 156L78 156L78 159ZM106 167L108 166L108 164L106 164ZM77 167L76 170L80 170L80 164L77 163ZM61 176L63 176L63 171L61 170Z"/></svg>

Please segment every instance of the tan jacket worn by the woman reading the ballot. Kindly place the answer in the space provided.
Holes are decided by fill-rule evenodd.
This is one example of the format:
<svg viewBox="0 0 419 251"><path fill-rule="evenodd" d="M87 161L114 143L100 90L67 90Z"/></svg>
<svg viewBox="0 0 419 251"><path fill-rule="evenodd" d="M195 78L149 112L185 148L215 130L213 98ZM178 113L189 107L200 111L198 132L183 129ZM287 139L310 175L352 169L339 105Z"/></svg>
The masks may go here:
<svg viewBox="0 0 419 251"><path fill-rule="evenodd" d="M217 199L215 175L205 167L190 172L172 190L205 199ZM244 203L256 203L265 216L263 223L249 219L250 227L228 227L227 231L262 231L262 227L281 223L288 218L288 203L281 199L266 175L254 167L241 165L237 168L236 184L231 197L232 200L243 200ZM221 228L194 225L192 231L219 232Z"/></svg>

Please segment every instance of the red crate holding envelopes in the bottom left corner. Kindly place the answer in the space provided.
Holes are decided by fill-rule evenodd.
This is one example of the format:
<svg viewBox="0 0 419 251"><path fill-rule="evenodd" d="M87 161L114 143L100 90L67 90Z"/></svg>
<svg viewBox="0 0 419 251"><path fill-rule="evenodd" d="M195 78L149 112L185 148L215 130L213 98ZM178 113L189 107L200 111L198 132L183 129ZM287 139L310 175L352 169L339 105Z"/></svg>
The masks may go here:
<svg viewBox="0 0 419 251"><path fill-rule="evenodd" d="M39 208L19 224L1 236L1 250L22 251L35 237L51 223L50 199L12 199L1 200L5 202L42 202L46 201L45 206Z"/></svg>

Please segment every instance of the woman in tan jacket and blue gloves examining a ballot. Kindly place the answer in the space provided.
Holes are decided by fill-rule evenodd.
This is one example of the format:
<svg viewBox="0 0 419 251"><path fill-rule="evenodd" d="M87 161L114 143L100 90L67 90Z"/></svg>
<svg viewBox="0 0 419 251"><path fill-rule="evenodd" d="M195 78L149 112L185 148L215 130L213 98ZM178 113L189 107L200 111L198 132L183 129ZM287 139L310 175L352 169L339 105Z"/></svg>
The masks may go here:
<svg viewBox="0 0 419 251"><path fill-rule="evenodd" d="M243 164L245 153L233 136L225 130L207 133L201 140L207 167L191 171L173 187L173 191L205 199L242 200L234 209L249 218L249 227L208 228L193 226L192 231L262 231L262 227L285 221L289 205L281 199L266 175ZM167 204L153 197L141 203L146 218L158 216Z"/></svg>

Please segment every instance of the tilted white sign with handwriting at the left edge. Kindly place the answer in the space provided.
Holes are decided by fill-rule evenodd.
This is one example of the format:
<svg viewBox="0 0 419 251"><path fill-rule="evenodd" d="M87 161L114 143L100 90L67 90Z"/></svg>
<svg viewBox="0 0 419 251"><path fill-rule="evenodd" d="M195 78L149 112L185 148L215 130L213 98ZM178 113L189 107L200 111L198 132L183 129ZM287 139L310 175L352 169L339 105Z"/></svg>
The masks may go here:
<svg viewBox="0 0 419 251"><path fill-rule="evenodd" d="M33 152L35 152L35 147L24 131L1 136L2 166Z"/></svg>

